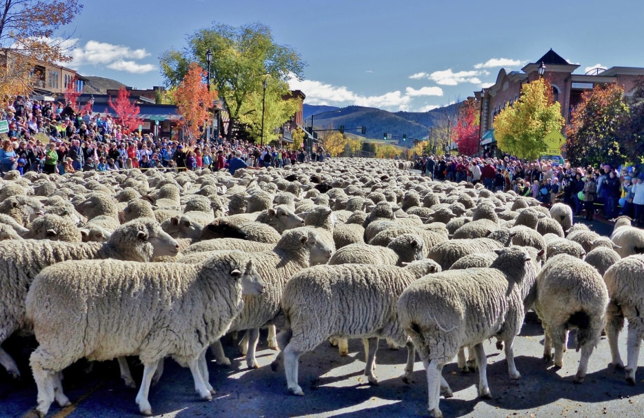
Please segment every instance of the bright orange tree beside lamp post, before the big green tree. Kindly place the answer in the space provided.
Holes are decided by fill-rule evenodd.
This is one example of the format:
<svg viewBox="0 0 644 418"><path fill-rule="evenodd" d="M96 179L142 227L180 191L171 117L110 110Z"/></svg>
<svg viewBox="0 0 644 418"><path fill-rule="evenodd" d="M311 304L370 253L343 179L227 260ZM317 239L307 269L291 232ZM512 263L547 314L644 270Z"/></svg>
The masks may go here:
<svg viewBox="0 0 644 418"><path fill-rule="evenodd" d="M217 92L208 91L208 86L203 83L205 71L197 63L191 63L183 81L174 92L174 102L183 116L179 121L179 128L188 132L188 137L199 137L200 127L210 119L208 108L212 106Z"/></svg>

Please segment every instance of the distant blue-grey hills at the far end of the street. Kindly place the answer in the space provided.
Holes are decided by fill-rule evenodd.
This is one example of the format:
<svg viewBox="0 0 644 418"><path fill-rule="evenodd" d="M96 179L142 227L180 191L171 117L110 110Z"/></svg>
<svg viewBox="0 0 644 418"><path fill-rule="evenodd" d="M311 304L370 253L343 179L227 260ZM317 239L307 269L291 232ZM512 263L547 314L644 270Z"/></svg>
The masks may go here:
<svg viewBox="0 0 644 418"><path fill-rule="evenodd" d="M360 128L365 126L370 139L382 139L386 132L393 135L394 139L407 138L422 139L429 135L430 128L436 126L445 115L456 112L458 104L437 108L429 112L388 112L376 108L363 106L347 106L336 108L334 106L310 106L305 104L303 116L305 125L311 125L311 115L314 117L315 129L339 129L341 125L350 134L361 135ZM325 112L323 115L318 114ZM362 135L361 135L362 136Z"/></svg>

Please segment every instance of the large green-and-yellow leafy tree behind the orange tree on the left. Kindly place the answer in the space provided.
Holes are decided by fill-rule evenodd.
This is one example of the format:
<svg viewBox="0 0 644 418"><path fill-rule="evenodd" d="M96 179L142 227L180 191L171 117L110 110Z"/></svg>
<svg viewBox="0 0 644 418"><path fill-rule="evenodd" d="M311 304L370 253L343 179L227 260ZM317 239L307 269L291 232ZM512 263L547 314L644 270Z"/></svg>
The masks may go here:
<svg viewBox="0 0 644 418"><path fill-rule="evenodd" d="M259 139L264 81L267 83L265 116L268 115L264 119L264 135L292 116L283 117L287 108L278 103L288 97L288 79L301 77L305 63L293 48L276 44L270 28L261 23L239 28L214 23L190 35L188 46L182 52L163 52L159 61L166 86L176 86L183 79L190 61L206 68L208 48L212 51L210 78L230 112L232 123L228 124L228 135L232 126L245 123L251 126L255 139Z"/></svg>

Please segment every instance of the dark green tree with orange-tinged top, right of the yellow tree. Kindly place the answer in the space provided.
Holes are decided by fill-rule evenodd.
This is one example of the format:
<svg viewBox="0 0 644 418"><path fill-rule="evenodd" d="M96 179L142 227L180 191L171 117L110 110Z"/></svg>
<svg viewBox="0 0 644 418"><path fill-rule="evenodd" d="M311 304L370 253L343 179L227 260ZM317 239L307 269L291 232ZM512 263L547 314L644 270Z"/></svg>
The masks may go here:
<svg viewBox="0 0 644 418"><path fill-rule="evenodd" d="M616 83L595 86L581 95L572 110L565 153L575 166L618 166L625 161L621 146L621 123L628 117L624 89Z"/></svg>

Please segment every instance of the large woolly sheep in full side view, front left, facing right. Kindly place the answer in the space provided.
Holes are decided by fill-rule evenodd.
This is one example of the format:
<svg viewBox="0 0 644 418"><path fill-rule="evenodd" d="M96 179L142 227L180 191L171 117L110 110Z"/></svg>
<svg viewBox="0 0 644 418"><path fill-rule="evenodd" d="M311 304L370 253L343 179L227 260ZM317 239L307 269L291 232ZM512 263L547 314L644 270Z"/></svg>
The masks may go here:
<svg viewBox="0 0 644 418"><path fill-rule="evenodd" d="M67 261L43 270L26 300L39 341L30 357L38 414L46 415L54 399L70 405L59 372L83 357L138 355L144 369L136 401L143 415L152 415L148 392L165 356L187 364L199 396L212 399L205 348L239 313L243 293L264 291L252 262L244 267L239 261L243 257L219 255L198 266Z"/></svg>

